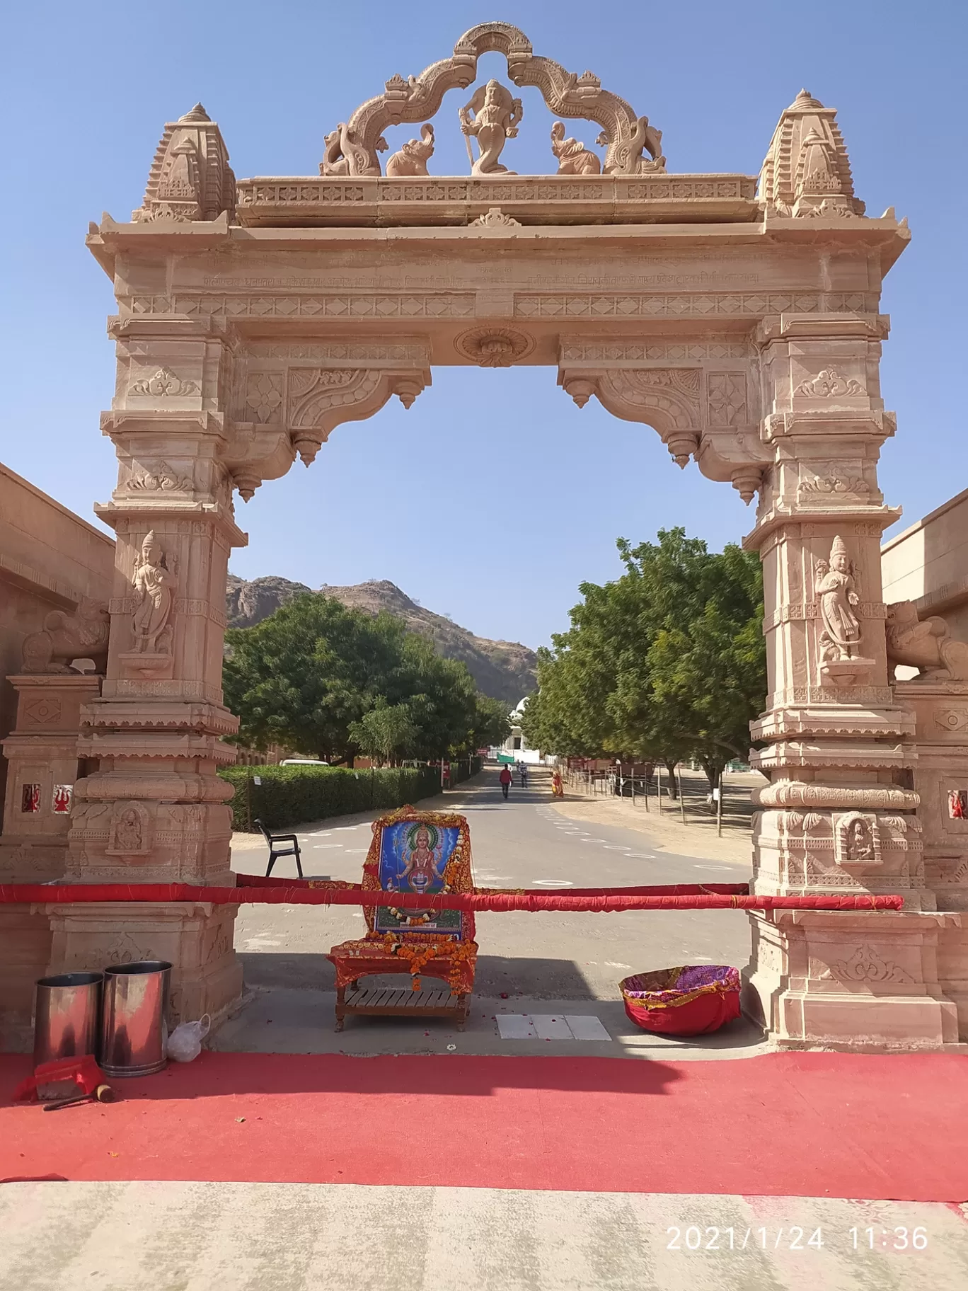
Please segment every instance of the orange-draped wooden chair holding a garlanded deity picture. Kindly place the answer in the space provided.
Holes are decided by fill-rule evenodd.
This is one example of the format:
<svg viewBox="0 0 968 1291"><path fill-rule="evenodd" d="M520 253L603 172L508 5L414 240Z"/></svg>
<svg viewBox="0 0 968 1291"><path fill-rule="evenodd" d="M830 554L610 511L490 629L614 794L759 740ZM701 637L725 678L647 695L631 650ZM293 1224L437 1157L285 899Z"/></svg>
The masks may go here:
<svg viewBox="0 0 968 1291"><path fill-rule="evenodd" d="M364 906L364 937L333 946L327 957L336 968L336 1029L343 1029L347 1013L452 1017L463 1028L478 957L474 913L403 909L394 905L394 893L474 889L466 818L413 807L381 816L373 821L360 886L386 892L387 900ZM409 973L408 989L360 986L360 979L385 973ZM423 990L422 977L434 977L447 989Z"/></svg>

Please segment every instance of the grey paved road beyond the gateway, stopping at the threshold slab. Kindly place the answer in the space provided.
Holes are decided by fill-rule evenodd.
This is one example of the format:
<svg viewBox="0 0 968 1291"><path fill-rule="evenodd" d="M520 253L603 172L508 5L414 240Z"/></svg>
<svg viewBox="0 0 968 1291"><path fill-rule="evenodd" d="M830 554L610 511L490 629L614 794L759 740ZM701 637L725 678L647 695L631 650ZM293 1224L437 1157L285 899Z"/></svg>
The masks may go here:
<svg viewBox="0 0 968 1291"><path fill-rule="evenodd" d="M518 785L501 798L494 771L426 803L463 812L471 826L476 882L494 887L627 887L645 883L743 882L749 865L653 852L647 834L569 821L551 806L547 780ZM307 874L359 880L369 824L323 822L299 834ZM276 873L288 861L276 866ZM261 873L262 849L236 851L234 869ZM293 873L283 869L281 873ZM330 990L324 958L338 941L360 936L359 910L249 906L235 944L245 980L257 988ZM476 993L547 1001L617 1001L630 972L680 963L749 958L747 917L738 910L622 914L481 914Z"/></svg>

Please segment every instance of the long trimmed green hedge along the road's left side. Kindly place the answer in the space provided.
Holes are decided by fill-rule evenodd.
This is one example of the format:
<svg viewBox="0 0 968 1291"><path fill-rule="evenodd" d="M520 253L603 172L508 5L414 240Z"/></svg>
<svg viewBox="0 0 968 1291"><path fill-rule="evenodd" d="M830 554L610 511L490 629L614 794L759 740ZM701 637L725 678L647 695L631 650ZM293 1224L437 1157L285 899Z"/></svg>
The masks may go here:
<svg viewBox="0 0 968 1291"><path fill-rule="evenodd" d="M465 762L465 775L467 763ZM457 766L452 767L452 773ZM223 767L235 788L232 829L253 831L258 817L268 829L347 816L370 807L403 807L440 793L435 767L350 771L346 767ZM254 782L258 776L261 784ZM461 777L463 778L463 777ZM250 784L247 785L247 781Z"/></svg>

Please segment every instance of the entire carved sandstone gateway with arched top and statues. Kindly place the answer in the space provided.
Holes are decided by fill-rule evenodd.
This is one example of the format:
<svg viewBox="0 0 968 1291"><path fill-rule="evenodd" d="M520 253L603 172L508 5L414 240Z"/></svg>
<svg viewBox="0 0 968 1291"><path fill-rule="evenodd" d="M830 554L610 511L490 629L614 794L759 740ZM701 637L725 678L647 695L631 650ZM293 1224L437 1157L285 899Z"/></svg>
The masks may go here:
<svg viewBox="0 0 968 1291"><path fill-rule="evenodd" d="M492 50L555 117L600 125L600 155L556 123L556 173L506 170L521 105L490 81L438 121L466 136L471 174L434 174L432 119ZM419 138L383 174L383 130L400 123ZM88 238L117 296L102 431L119 476L97 506L117 534L110 631L88 607L34 642L15 679L4 878L232 882L216 772L235 759L221 691L227 560L247 541L234 494L248 502L297 457L325 469L336 426L394 395L409 408L436 364L554 367L563 398L652 426L679 466L758 498L746 545L765 573L769 693L754 736L771 782L755 891L906 897L896 914L752 914L747 1008L787 1046L953 1047L959 1015L968 1038L968 683L953 648L892 683L880 584L900 513L876 479L894 432L879 301L907 239L893 210L865 214L835 112L805 90L759 179L670 174L645 117L498 22L391 77L327 136L318 177L236 182L200 106L166 125L130 223L105 216ZM67 673L72 656L98 671ZM77 758L72 811L48 811ZM31 785L41 811L21 809ZM178 1016L239 998L230 908L0 918L25 1025L35 977L111 961L170 959Z"/></svg>

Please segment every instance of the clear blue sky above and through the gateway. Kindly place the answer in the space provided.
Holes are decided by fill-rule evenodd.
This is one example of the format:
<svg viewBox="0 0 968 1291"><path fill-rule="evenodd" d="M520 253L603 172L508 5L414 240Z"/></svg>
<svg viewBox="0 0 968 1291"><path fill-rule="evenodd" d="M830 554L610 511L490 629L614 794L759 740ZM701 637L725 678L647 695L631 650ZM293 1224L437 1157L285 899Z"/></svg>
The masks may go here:
<svg viewBox="0 0 968 1291"><path fill-rule="evenodd" d="M938 0L18 5L3 68L0 458L88 518L114 487L98 431L114 301L83 239L102 210L126 219L139 205L165 121L200 99L240 178L314 174L323 134L390 75L422 71L469 27L502 18L647 114L674 172L756 173L802 86L839 108L858 196L874 214L896 207L914 234L883 303L898 432L882 484L907 524L968 483L964 14ZM507 80L496 54L480 71ZM551 116L537 90L523 97L509 164L551 170ZM436 117L436 173L466 173L458 99ZM391 148L413 133L391 132ZM576 133L591 142L598 128ZM752 523L733 489L694 465L679 471L648 427L595 400L580 412L549 368L438 369L409 412L392 400L339 427L308 471L297 463L237 511L250 545L232 569L244 577L391 578L483 635L530 646L567 626L582 580L620 572L617 536L684 524L720 546Z"/></svg>

